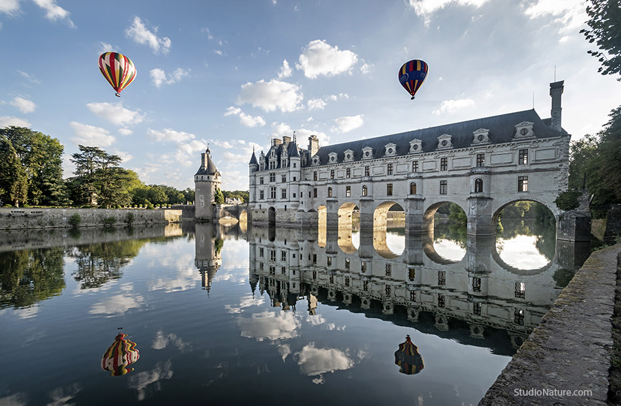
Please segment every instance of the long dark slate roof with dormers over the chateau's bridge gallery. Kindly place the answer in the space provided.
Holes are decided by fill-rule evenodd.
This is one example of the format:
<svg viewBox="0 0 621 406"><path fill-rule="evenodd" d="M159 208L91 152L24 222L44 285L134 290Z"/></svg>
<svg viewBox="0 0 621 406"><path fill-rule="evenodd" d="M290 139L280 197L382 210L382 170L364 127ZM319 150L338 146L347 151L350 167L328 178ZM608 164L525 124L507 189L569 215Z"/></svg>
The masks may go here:
<svg viewBox="0 0 621 406"><path fill-rule="evenodd" d="M442 134L449 134L452 136L451 142L453 143L453 148L449 150L469 148L475 146L472 144L474 138L473 132L480 128L489 130L489 144L509 143L513 141L515 125L522 123L522 121L534 123L533 132L535 133L535 139L558 137L561 134L567 135L564 130L560 133L558 130L549 127L551 120L542 120L535 110L524 110L522 112L500 114L483 119L462 121L461 123L438 125L437 127L422 128L420 130L401 132L399 134L326 145L320 148L316 155L319 156L320 159L319 165L325 165L328 163L328 154L336 152L338 154L337 162L333 163L340 163L344 161L344 152L346 150L352 150L354 153L353 161L360 161L362 159L362 149L371 147L373 148L373 159L379 159L384 157L384 153L386 152L385 145L393 143L397 145L397 152L394 156L402 156L410 154L410 141L413 139L422 140L422 152L435 152L438 143L437 137ZM312 161L309 159L306 166L311 166L311 163Z"/></svg>

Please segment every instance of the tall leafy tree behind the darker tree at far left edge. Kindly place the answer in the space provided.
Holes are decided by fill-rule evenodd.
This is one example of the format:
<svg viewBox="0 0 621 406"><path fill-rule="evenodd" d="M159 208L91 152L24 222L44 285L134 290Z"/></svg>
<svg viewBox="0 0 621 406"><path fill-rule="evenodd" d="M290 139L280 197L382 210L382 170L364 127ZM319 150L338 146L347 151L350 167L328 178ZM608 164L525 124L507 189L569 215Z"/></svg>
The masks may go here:
<svg viewBox="0 0 621 406"><path fill-rule="evenodd" d="M0 130L15 148L28 179L28 203L62 205L66 201L62 156L58 139L28 128L10 126Z"/></svg>

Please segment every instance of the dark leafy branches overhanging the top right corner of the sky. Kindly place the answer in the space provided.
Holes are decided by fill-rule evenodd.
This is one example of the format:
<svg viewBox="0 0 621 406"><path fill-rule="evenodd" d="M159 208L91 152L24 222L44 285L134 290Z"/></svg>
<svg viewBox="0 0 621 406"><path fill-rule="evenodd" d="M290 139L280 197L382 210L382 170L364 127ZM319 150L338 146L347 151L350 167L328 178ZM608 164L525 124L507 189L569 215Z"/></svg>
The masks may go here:
<svg viewBox="0 0 621 406"><path fill-rule="evenodd" d="M590 0L586 7L589 28L580 30L589 43L595 42L600 50L589 50L598 58L602 74L621 74L621 8L618 0ZM617 79L621 81L621 77Z"/></svg>

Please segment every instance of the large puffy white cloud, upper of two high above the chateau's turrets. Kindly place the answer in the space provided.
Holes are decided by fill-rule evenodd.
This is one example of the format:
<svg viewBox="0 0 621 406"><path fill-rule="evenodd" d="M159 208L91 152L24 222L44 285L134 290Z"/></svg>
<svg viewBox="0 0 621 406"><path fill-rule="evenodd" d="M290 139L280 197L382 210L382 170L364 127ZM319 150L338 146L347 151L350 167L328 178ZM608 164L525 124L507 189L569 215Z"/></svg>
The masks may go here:
<svg viewBox="0 0 621 406"><path fill-rule="evenodd" d="M319 75L335 76L344 72L351 72L351 68L358 61L358 56L349 50L341 51L321 39L311 41L299 55L297 70L303 70L304 76L315 79Z"/></svg>

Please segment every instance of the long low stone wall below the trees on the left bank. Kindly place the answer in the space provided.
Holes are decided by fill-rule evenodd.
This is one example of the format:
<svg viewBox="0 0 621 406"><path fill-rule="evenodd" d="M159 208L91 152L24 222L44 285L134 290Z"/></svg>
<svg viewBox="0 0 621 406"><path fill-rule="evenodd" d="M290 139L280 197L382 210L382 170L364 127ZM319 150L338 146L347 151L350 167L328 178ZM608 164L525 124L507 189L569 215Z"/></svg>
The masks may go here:
<svg viewBox="0 0 621 406"><path fill-rule="evenodd" d="M112 219L110 225L177 223L181 210L139 209L21 209L0 208L0 230L25 230L32 228L71 227L69 219L80 216L80 227L104 225L104 219ZM129 216L133 215L132 221Z"/></svg>

